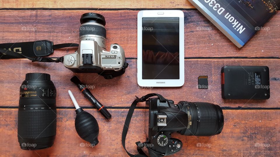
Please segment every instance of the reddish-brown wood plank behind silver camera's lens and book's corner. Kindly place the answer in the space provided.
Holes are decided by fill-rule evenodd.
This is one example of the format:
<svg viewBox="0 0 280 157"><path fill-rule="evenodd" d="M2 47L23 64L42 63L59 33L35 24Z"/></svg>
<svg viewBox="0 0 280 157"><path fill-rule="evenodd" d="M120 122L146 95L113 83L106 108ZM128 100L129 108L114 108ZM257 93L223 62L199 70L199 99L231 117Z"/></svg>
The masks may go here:
<svg viewBox="0 0 280 157"><path fill-rule="evenodd" d="M88 3L88 2L87 2ZM71 4L71 3L69 3ZM72 5L72 4L71 4ZM51 40L55 44L79 42L79 19L86 10L0 10L0 43ZM118 43L126 57L137 57L138 10L91 10L104 15L107 29L107 48ZM241 49L227 39L197 10L185 14L185 57L279 57L279 11ZM22 30L24 28L28 30ZM36 29L36 30L35 30ZM33 31L34 30L34 31ZM63 56L75 49L55 51Z"/></svg>

